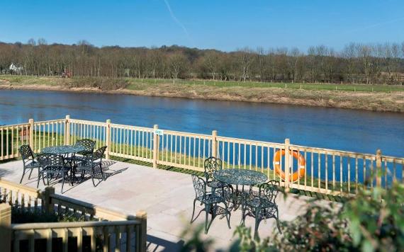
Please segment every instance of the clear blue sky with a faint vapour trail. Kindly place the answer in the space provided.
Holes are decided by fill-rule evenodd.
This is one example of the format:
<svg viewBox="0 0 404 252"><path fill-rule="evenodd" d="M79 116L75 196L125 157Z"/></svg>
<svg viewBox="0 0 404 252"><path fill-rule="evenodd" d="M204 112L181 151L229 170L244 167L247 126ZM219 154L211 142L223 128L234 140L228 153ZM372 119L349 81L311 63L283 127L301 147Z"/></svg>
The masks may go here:
<svg viewBox="0 0 404 252"><path fill-rule="evenodd" d="M2 0L6 1L6 0ZM0 41L240 47L403 42L403 0L131 0L0 4ZM171 9L171 12L170 12Z"/></svg>

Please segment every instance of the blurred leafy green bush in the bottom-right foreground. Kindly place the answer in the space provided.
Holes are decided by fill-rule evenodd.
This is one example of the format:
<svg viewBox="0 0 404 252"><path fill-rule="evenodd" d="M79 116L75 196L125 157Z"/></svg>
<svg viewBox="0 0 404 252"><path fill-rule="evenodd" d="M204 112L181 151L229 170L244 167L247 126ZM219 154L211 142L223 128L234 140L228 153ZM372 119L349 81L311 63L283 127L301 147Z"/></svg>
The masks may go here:
<svg viewBox="0 0 404 252"><path fill-rule="evenodd" d="M281 251L404 251L404 185L388 190L360 190L335 210L336 204L310 205L276 234Z"/></svg>

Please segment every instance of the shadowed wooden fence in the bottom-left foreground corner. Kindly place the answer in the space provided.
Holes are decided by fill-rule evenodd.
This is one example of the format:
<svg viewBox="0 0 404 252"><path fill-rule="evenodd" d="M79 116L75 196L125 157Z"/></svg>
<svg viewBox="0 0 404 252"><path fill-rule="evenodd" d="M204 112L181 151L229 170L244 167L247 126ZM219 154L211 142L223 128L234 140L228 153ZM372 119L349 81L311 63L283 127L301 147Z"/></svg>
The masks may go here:
<svg viewBox="0 0 404 252"><path fill-rule="evenodd" d="M0 204L0 244L4 251L11 251L11 247L13 251L22 251L25 248L34 251L35 241L38 239L46 240L47 251L52 251L58 244L61 246L60 251L67 251L71 244L67 240L75 239L77 251L82 251L86 238L90 240L87 246L91 251L96 251L97 244L103 251L146 251L145 212L140 211L135 216L130 216L57 195L54 188L48 187L40 191L1 179L0 192L0 200L6 202ZM81 217L83 221L11 224L11 207L29 212L74 215ZM25 247L21 246L24 241L28 241Z"/></svg>

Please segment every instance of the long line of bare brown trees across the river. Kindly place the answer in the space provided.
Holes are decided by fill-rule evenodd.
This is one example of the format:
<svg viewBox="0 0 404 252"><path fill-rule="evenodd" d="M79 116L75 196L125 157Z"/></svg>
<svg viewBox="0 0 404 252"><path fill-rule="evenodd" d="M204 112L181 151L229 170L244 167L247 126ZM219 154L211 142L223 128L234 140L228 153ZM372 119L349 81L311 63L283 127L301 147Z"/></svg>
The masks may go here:
<svg viewBox="0 0 404 252"><path fill-rule="evenodd" d="M18 71L10 69L11 64ZM310 83L404 84L404 42L349 43L336 51L325 45L298 48L248 47L234 52L162 47L96 47L46 40L0 42L0 73L38 76L212 79Z"/></svg>

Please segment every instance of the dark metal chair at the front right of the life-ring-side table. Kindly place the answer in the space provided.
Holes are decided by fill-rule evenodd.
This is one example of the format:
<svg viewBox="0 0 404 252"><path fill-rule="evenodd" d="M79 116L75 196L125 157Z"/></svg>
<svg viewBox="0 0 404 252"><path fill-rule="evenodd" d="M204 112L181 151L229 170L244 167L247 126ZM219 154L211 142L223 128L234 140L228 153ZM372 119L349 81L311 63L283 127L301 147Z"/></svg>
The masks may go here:
<svg viewBox="0 0 404 252"><path fill-rule="evenodd" d="M258 237L259 223L263 219L276 219L276 226L282 234L279 226L279 210L275 199L279 192L279 181L268 181L259 185L258 193L252 193L245 199L242 207L242 224L245 223L245 217L255 218L254 237Z"/></svg>

